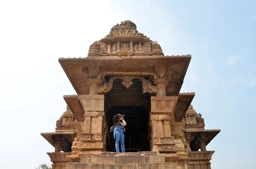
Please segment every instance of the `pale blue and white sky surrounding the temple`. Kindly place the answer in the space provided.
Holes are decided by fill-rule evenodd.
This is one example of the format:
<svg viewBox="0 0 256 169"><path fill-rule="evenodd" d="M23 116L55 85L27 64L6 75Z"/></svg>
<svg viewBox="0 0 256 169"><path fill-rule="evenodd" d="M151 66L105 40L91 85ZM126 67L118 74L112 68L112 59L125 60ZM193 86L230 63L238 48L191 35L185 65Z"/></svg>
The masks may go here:
<svg viewBox="0 0 256 169"><path fill-rule="evenodd" d="M1 0L0 168L34 169L54 148L54 132L76 94L59 57L86 57L90 44L124 20L157 41L165 55L192 54L181 92L206 129L212 169L255 168L256 1Z"/></svg>

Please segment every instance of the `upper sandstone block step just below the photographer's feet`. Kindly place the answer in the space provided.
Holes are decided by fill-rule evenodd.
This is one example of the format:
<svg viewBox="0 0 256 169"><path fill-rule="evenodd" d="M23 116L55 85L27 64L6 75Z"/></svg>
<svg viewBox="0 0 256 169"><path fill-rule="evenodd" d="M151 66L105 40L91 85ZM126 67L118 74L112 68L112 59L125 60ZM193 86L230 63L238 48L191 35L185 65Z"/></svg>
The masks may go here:
<svg viewBox="0 0 256 169"><path fill-rule="evenodd" d="M80 163L102 163L102 164L143 164L143 163L164 163L164 155L82 155Z"/></svg>

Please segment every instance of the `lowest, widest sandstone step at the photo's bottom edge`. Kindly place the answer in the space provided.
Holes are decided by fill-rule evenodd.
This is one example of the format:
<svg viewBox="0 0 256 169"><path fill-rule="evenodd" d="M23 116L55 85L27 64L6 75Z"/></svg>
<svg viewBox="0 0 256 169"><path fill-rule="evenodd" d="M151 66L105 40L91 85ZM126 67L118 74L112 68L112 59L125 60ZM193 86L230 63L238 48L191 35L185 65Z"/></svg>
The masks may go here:
<svg viewBox="0 0 256 169"><path fill-rule="evenodd" d="M100 164L67 163L66 169L176 169L175 163Z"/></svg>

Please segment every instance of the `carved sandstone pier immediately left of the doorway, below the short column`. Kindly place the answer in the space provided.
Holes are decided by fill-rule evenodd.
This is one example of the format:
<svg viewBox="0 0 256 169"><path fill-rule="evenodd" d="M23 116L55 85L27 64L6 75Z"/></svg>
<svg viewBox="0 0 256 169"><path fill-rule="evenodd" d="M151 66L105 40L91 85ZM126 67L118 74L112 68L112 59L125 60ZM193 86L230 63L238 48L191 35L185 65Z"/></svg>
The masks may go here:
<svg viewBox="0 0 256 169"><path fill-rule="evenodd" d="M84 108L84 131L79 133L78 155L95 155L105 150L103 143L104 95L78 95Z"/></svg>

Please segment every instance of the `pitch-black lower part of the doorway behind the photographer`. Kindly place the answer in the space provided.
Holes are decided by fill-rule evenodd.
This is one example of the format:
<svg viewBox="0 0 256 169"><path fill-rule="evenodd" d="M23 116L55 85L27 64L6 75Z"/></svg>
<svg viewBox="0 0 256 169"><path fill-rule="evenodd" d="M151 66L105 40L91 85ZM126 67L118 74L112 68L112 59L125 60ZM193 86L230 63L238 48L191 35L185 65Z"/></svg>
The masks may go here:
<svg viewBox="0 0 256 169"><path fill-rule="evenodd" d="M125 152L150 151L147 137L148 109L143 106L115 106L109 109L108 125L113 125L113 116L125 115ZM115 141L113 134L110 136L111 152L115 152ZM120 146L121 150L121 146Z"/></svg>

